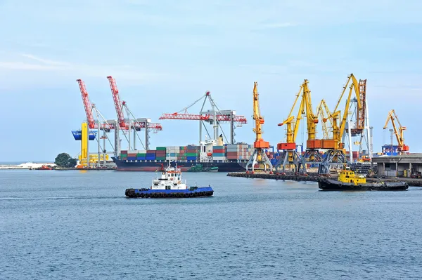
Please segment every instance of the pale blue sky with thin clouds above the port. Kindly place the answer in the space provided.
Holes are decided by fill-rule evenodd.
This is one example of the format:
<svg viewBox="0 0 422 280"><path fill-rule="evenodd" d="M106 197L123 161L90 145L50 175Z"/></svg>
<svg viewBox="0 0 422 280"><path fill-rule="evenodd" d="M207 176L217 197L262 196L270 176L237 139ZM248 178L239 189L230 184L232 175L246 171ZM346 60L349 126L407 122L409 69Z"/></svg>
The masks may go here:
<svg viewBox="0 0 422 280"><path fill-rule="evenodd" d="M70 131L85 114L76 80L101 114L115 119L109 75L137 117L162 124L151 148L197 144L196 121L159 117L205 91L220 109L247 117L236 140L252 144L254 81L264 140L276 145L286 134L277 124L304 79L313 107L324 99L333 109L353 73L367 80L374 152L390 143L383 130L390 109L407 127L410 152L422 152L420 11L416 0L0 0L0 161L77 156L80 142ZM300 133L297 142L306 137Z"/></svg>

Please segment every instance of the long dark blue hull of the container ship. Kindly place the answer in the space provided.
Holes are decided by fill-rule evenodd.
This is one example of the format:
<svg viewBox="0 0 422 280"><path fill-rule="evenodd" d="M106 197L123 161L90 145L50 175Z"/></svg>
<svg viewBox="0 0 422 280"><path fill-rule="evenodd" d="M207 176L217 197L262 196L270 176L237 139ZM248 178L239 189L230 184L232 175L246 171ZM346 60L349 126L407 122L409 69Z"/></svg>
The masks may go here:
<svg viewBox="0 0 422 280"><path fill-rule="evenodd" d="M120 159L112 157L113 161L117 166L117 171L157 171L161 164L167 165L168 161L122 161ZM170 163L174 166L174 162ZM245 171L246 162L199 162L199 161L188 161L177 163L177 167L181 171L188 171L189 168L196 166L196 164L202 164L203 168L218 167L217 172L242 172Z"/></svg>

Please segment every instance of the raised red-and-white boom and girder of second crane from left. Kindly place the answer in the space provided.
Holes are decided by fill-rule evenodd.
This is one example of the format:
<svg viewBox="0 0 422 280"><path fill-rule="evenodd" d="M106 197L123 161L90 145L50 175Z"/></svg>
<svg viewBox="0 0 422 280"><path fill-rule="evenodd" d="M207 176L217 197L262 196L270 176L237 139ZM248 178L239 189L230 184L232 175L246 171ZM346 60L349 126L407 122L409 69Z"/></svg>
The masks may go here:
<svg viewBox="0 0 422 280"><path fill-rule="evenodd" d="M127 109L126 102L120 101L119 90L117 89L117 84L116 84L115 79L112 76L107 76L107 79L110 82L111 93L113 95L113 100L115 103L117 121L119 123L119 126L121 129L128 130L129 122L124 120L124 114L123 114L123 107ZM127 110L129 111L129 109ZM131 126L132 128L136 129L136 131L140 131L141 129L146 128L146 123L135 120L134 122L131 121ZM148 130L162 131L162 126L161 124L148 123Z"/></svg>

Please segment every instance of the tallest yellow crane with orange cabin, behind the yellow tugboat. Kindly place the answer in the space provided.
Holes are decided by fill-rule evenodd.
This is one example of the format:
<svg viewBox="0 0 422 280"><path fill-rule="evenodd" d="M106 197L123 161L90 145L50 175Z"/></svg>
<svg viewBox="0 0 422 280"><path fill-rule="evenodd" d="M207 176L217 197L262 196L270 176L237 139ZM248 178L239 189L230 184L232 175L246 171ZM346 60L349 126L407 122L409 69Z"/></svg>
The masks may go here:
<svg viewBox="0 0 422 280"><path fill-rule="evenodd" d="M343 99L343 96L345 95L345 91L347 86L349 85L350 81L352 83L350 84L350 91L347 95L347 99L345 102L345 107L343 110L343 116L341 115L340 110L338 109L340 106L340 102ZM366 81L365 81L366 84ZM352 100L352 93L354 92L355 99ZM328 118L324 118L323 121L326 122L328 119L332 119L332 125L333 125L333 138L323 140L322 146L324 149L327 149L326 156L324 158L323 164L320 165L319 173L320 174L327 174L329 173L329 166L335 165L335 166L343 166L343 164L350 164L350 161L347 161L347 158L345 156L345 144L344 144L344 136L347 128L347 134L349 135L349 142L351 142L352 135L356 135L359 133L362 133L364 131L364 120L360 120L356 122L357 126L354 128L350 125L350 118L349 118L349 108L350 108L350 102L357 102L357 111L356 116L358 119L361 118L364 113L362 112L362 98L360 96L359 91L359 83L357 82L357 79L354 77L353 74L350 74L347 76L347 82L345 86L343 86L343 91L340 94L340 98L338 98L337 105L335 105L335 108L333 110L333 113L328 116ZM340 120L340 126L338 126L338 119ZM349 123L349 124L348 124ZM351 147L350 147L351 149ZM352 152L350 152L352 154Z"/></svg>

